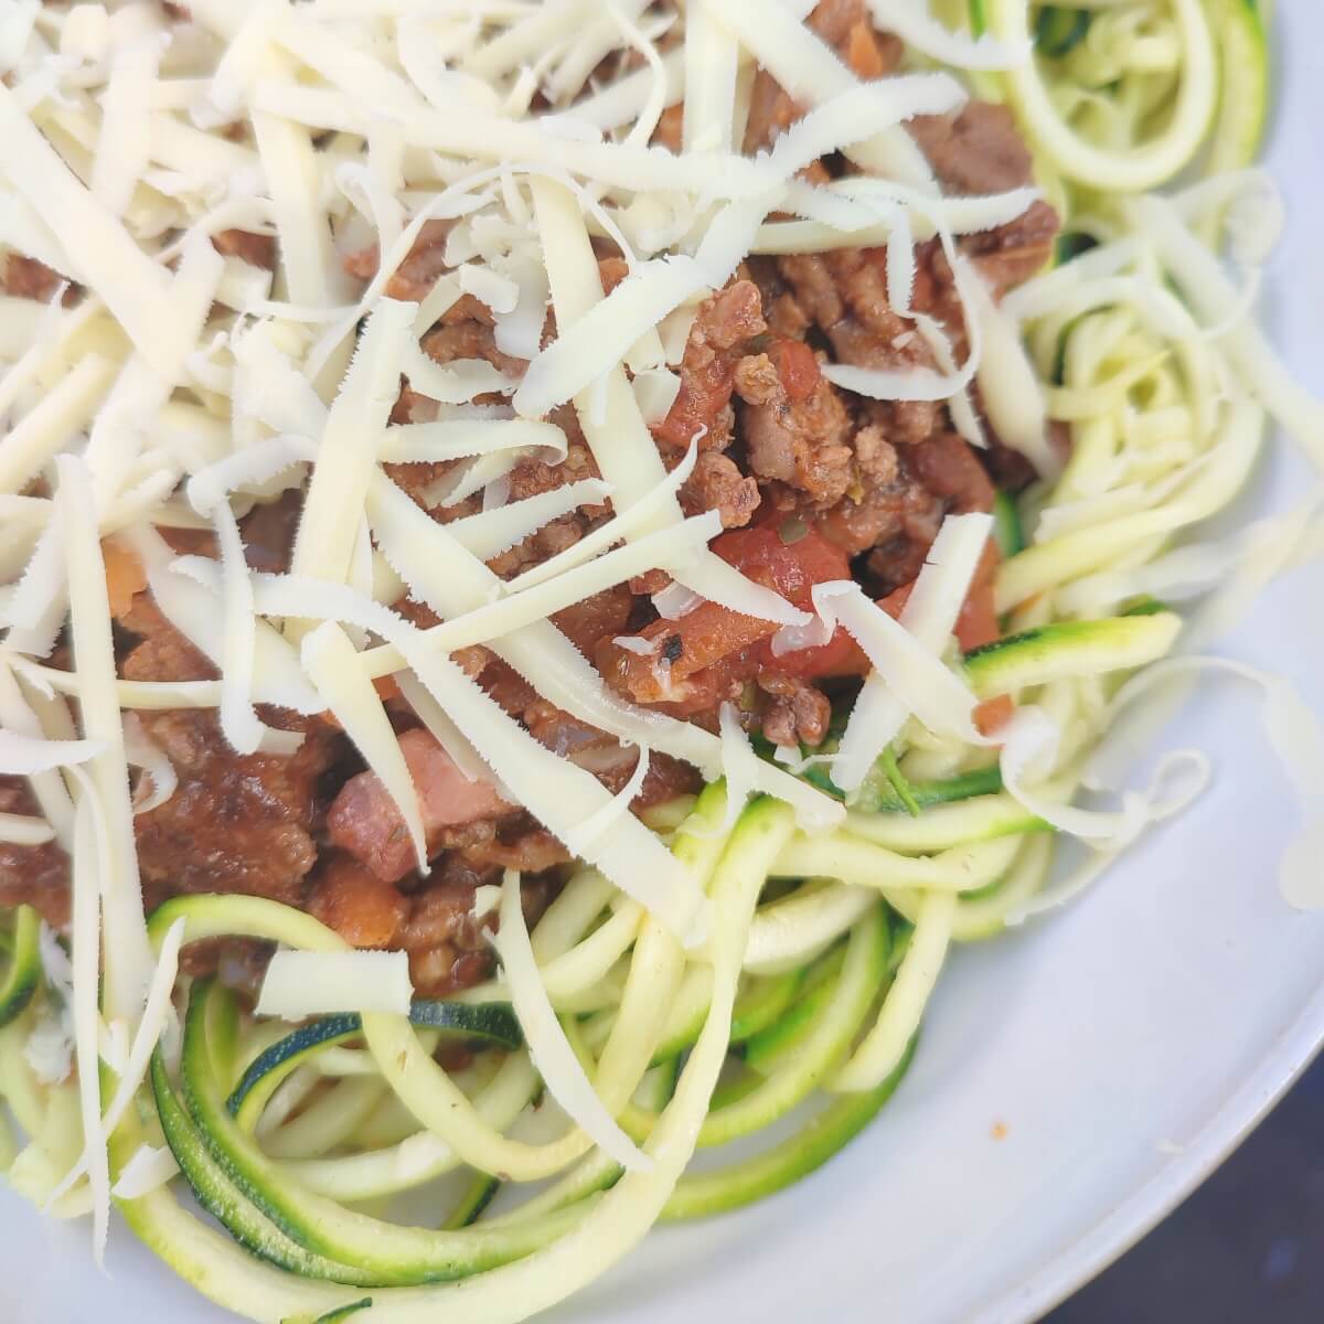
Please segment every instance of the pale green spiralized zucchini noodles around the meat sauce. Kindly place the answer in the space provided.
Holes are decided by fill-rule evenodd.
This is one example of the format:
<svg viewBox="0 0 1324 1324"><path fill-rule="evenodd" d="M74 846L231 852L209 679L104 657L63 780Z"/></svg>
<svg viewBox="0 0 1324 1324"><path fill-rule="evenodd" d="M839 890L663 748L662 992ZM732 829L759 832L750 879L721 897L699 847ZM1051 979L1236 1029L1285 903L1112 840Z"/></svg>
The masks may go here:
<svg viewBox="0 0 1324 1324"><path fill-rule="evenodd" d="M1254 473L1270 417L1324 455L1324 410L1249 320L1278 221L1249 168L1268 99L1267 9L935 8L953 30L1037 42L1029 61L961 74L1014 109L1068 237L984 328L1002 338L998 361L1021 371L980 380L989 414L1005 405L1009 418L1025 401L998 392L1031 383L1061 471L1000 495L1004 638L948 654L978 698L1010 700L1021 739L1008 736L1000 759L994 740L911 718L849 796L831 781L830 745L802 751L804 781L846 802L828 833L800 830L768 797L728 805L723 781L654 810L712 906L698 945L576 867L528 952L577 1066L642 1155L634 1166L548 1096L500 976L412 1016L299 1026L257 1018L218 982L181 980L177 1033L106 1137L110 1176L128 1225L221 1305L263 1324L515 1321L602 1272L658 1219L781 1190L899 1087L953 947L1075 895L1202 785L1202 756L1184 752L1112 808L1075 804L1082 789L1117 789L1100 769L1124 678L1181 649L1182 630L1211 634L1267 573L1271 557L1243 564L1238 547L1201 542L1201 526ZM1152 195L1196 169L1210 180ZM1290 560L1279 552L1274 565ZM69 685L53 669L26 675ZM1086 858L1050 883L1062 831ZM185 945L347 949L311 916L245 896L177 898L148 931L158 951L172 931ZM68 1014L50 961L41 978L42 941L56 940L23 910L0 947L0 1096L25 1137L0 1127L0 1166L56 1215L78 1217L93 1205L86 1176L68 1177L86 1149L78 1084L68 1063L37 1071L30 1051ZM444 1066L444 1041L471 1061ZM752 1156L723 1152L775 1129ZM718 1161L687 1170L700 1148ZM164 1181L135 1188L135 1165L171 1156L224 1231ZM392 1221L392 1201L409 1194L417 1207L420 1192L426 1225Z"/></svg>

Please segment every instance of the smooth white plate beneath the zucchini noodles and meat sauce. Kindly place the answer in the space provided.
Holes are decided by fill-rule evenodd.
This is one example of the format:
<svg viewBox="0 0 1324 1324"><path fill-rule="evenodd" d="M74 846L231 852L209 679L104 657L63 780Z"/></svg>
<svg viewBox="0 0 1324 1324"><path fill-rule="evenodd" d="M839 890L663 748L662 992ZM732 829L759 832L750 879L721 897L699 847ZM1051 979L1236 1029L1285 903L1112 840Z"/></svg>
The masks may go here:
<svg viewBox="0 0 1324 1324"><path fill-rule="evenodd" d="M1275 326L1324 392L1319 107L1324 9L1280 5L1286 69L1272 164L1291 204ZM1250 508L1315 482L1275 453ZM1324 572L1298 572L1231 643L1324 708ZM741 1214L663 1229L571 1305L576 1324L1030 1320L1205 1177L1324 1038L1324 915L1279 899L1292 812L1255 700L1206 691L1170 736L1217 785L1071 910L961 952L916 1064L873 1128L809 1181ZM1005 1127L1005 1139L994 1128ZM221 1324L113 1233L107 1282L82 1227L0 1193L0 1319Z"/></svg>

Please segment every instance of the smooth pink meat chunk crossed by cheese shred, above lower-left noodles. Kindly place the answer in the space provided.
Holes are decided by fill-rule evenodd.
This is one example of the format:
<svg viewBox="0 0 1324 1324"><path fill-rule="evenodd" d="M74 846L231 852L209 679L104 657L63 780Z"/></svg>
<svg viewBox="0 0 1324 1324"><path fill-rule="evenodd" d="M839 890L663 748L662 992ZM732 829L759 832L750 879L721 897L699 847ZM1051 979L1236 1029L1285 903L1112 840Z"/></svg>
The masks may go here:
<svg viewBox="0 0 1324 1324"><path fill-rule="evenodd" d="M429 847L440 842L442 829L510 813L512 806L490 781L470 781L426 731L406 731L400 752L418 790ZM327 833L387 882L404 878L414 866L404 817L375 772L361 772L344 784L327 812Z"/></svg>

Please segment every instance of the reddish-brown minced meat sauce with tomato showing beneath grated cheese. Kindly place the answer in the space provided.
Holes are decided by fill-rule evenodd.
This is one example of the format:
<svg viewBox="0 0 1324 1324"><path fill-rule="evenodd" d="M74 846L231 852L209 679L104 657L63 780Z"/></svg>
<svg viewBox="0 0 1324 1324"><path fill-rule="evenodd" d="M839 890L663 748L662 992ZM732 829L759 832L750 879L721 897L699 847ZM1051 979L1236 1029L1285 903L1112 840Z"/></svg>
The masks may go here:
<svg viewBox="0 0 1324 1324"><path fill-rule="evenodd" d="M861 79L886 75L902 60L902 44L874 29L866 0L824 0L809 21ZM769 147L806 110L757 71L745 148ZM674 106L662 115L654 132L659 150L682 142L683 114ZM1004 107L969 102L959 113L918 119L910 131L952 195L1031 183L1030 154ZM854 169L849 159L834 156L802 175L824 184ZM451 270L446 252L454 225L422 226L385 281L389 297L426 298ZM963 237L959 249L1001 297L1043 265L1057 228L1053 209L1035 203L1008 225ZM213 244L226 257L274 266L271 236L230 229ZM602 238L594 240L594 254L609 293L629 274L625 256ZM361 248L342 261L351 275L369 281L380 254L375 246ZM677 365L678 393L651 426L667 470L696 450L678 499L686 515L720 514L723 532L712 540L712 552L802 609L813 606L816 585L854 579L886 610L899 613L943 519L989 510L994 478L1018 487L1031 477L1025 461L998 446L996 437L989 450L972 450L940 401L878 401L828 380L828 364L939 368L916 312L941 326L953 352L964 357L968 335L949 252L931 240L916 248L915 266L911 306L899 310L888 299L886 249L751 257L698 307ZM0 283L11 295L50 299L61 281L26 258L9 256L0 265ZM544 343L555 334L548 312ZM477 360L507 381L527 367L507 352L491 310L471 295L449 306L421 343L437 364ZM401 377L395 424L440 416L424 385ZM494 391L477 402L508 408L508 396ZM539 453L519 455L507 475L510 500L600 477L573 405L561 405L549 421L565 436L565 458L556 463ZM493 495L465 496L457 485L467 471L469 461L387 466L392 481L442 524L477 514ZM240 526L252 568L289 568L301 500L289 491L244 515ZM494 556L489 567L512 579L575 547L610 518L606 503L581 506ZM216 556L207 530L160 532L176 552ZM213 678L209 661L156 608L131 552L107 542L106 555L120 674L135 681ZM996 565L990 551L957 621L963 647L996 636ZM782 653L776 624L714 602L699 602L677 620L661 617L651 594L669 583L665 572L650 571L557 612L552 621L630 703L708 730L718 728L722 706L730 703L747 730L777 745L820 744L831 720L829 696L858 686L869 670L845 629L837 628L826 642ZM418 628L438 622L426 602L412 597L396 609ZM530 678L489 647L465 649L453 661L543 748L613 794L632 784L637 748L540 696ZM226 744L214 711L143 710L143 732L179 777L164 804L135 818L147 904L180 892L270 896L305 907L355 947L405 951L414 986L425 996L446 996L485 978L493 964L494 919L474 919L477 888L498 882L503 870L518 870L534 923L564 880L569 854L508 789L467 776L397 687L385 681L380 692L418 792L425 870L395 800L332 719L263 707L263 722L301 732L302 744L287 757L241 756ZM632 808L643 812L698 784L694 768L653 753ZM34 810L23 781L0 777L0 812ZM16 902L37 906L53 924L68 923L68 859L58 845L0 843L0 903ZM253 944L193 948L188 968L229 961L240 982L253 984L267 952Z"/></svg>

